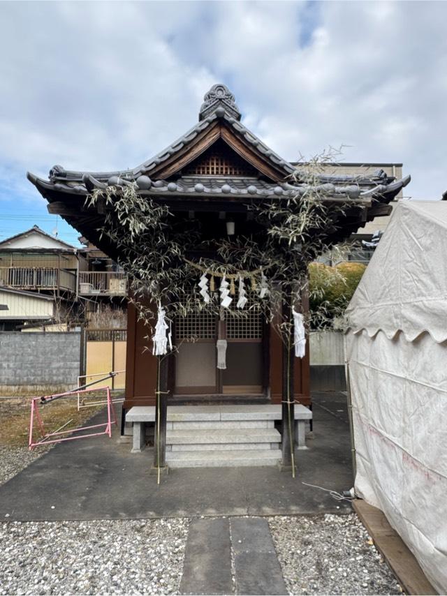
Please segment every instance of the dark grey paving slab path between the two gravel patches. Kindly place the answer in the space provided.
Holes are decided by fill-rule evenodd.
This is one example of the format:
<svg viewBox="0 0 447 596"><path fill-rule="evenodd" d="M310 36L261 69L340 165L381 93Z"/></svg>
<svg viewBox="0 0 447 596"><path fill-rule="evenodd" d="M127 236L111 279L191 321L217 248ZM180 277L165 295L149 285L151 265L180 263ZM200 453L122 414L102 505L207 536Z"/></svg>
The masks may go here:
<svg viewBox="0 0 447 596"><path fill-rule="evenodd" d="M196 519L186 542L182 594L288 594L268 521Z"/></svg>

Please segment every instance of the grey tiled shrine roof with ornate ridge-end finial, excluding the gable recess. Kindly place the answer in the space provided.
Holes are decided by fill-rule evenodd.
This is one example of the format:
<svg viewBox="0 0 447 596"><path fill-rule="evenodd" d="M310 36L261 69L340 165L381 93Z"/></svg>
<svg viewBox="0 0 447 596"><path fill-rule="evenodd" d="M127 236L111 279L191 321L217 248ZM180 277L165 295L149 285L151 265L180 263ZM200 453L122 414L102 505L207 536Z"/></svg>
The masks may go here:
<svg viewBox="0 0 447 596"><path fill-rule="evenodd" d="M34 174L27 174L29 180L38 188L56 190L67 193L87 194L94 188L106 188L116 184L137 184L140 191L150 195L156 194L194 194L194 195L259 195L259 196L290 196L305 195L310 188L317 188L324 195L334 195L334 198L348 197L375 198L381 196L395 196L403 186L409 183L410 177L395 180L388 177L383 170L377 170L371 175L349 176L347 174L318 174L309 177L302 167L290 162L274 153L267 145L251 133L241 122L240 112L234 103L234 96L224 85L214 85L205 95L205 102L200 109L200 121L187 133L179 137L169 147L159 154L145 161L132 170L114 172L78 172L65 170L61 165L54 165L50 170L49 181L39 179ZM231 128L237 137L248 142L254 151L274 167L284 172L284 181L272 183L258 178L247 177L179 177L176 180L156 179L151 172L157 166L175 156L179 151L209 128L214 122L221 120Z"/></svg>

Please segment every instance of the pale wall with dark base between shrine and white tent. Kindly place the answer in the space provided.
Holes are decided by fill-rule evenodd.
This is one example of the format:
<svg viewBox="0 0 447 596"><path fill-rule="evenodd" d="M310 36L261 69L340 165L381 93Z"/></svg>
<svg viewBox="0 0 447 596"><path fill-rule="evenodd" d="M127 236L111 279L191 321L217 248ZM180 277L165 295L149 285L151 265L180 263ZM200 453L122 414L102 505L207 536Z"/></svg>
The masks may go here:
<svg viewBox="0 0 447 596"><path fill-rule="evenodd" d="M309 342L311 391L345 391L342 332L312 331Z"/></svg>

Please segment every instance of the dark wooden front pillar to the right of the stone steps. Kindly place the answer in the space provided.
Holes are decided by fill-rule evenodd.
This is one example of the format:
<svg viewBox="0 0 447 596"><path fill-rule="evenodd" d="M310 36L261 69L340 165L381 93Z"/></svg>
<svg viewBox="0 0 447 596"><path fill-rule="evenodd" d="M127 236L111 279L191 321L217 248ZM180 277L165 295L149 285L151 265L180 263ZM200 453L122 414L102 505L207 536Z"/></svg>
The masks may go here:
<svg viewBox="0 0 447 596"><path fill-rule="evenodd" d="M294 355L293 348L293 326L292 307L284 301L282 318L288 323L288 329L284 333L282 348L282 403L281 403L281 449L282 469L292 470L295 477L295 396L294 385Z"/></svg>

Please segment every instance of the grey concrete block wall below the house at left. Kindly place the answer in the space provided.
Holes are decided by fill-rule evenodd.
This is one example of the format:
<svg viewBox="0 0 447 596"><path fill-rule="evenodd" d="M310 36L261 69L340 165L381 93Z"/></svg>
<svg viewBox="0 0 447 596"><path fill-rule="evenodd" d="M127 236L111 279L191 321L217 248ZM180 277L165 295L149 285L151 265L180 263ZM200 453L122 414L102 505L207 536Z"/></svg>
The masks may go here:
<svg viewBox="0 0 447 596"><path fill-rule="evenodd" d="M0 332L0 389L75 387L81 334Z"/></svg>

